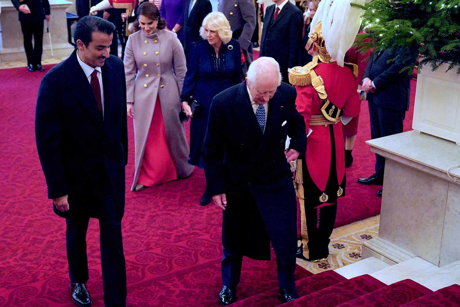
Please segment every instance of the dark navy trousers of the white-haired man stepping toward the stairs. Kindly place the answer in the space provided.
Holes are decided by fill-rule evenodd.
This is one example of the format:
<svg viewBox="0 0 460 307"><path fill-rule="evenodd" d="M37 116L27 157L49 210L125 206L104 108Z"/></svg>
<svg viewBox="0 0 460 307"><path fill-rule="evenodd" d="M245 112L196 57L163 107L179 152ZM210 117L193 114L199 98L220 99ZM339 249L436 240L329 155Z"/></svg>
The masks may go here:
<svg viewBox="0 0 460 307"><path fill-rule="evenodd" d="M294 194L292 197L292 200L289 197L287 198L289 198L293 206L296 206ZM244 203L245 208L233 207L232 204L236 202ZM247 205L257 207L251 193L241 193L238 196L227 194L227 207L224 211L223 218L228 219L230 216L235 217L247 214ZM260 219L262 219L262 223L265 225L265 230L262 231L266 231L264 234L265 236L268 234L271 245L275 250L278 282L282 288L290 291L294 287L295 249L297 248L297 216L295 214L290 214L291 210L276 208L277 205L278 202L276 199L273 199L272 202L259 204L259 206L265 206L265 209L259 210L260 215L254 215L250 219L253 219L256 225L260 224ZM276 212L276 214L273 214L273 212ZM234 225L237 224L238 221ZM280 224L285 225L285 227L277 227L277 225ZM223 232L224 231L223 229ZM254 233L248 233L247 235L254 235ZM236 285L240 282L243 256L233 246L226 246L224 240L223 245L224 256L222 257L221 267L222 281L224 285L230 289L235 289Z"/></svg>

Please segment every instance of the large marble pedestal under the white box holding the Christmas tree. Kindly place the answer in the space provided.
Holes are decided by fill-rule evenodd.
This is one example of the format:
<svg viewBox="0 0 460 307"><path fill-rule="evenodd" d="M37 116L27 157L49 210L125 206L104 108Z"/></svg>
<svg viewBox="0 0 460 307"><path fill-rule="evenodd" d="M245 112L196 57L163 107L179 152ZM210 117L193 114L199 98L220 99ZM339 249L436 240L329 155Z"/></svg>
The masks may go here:
<svg viewBox="0 0 460 307"><path fill-rule="evenodd" d="M366 142L386 158L379 237L363 257L395 264L418 256L436 266L460 260L460 147L409 131ZM458 180L455 182L455 180Z"/></svg>

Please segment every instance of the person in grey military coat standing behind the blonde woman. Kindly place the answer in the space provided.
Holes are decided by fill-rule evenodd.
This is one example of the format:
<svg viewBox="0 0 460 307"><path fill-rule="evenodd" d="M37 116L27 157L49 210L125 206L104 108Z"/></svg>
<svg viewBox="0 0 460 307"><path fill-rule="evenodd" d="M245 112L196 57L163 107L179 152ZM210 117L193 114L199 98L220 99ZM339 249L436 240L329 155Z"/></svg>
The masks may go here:
<svg viewBox="0 0 460 307"><path fill-rule="evenodd" d="M246 74L253 61L252 37L256 27L256 8L253 0L219 0L219 12L227 17L233 32L232 38L238 40L243 52L245 63L242 67Z"/></svg>

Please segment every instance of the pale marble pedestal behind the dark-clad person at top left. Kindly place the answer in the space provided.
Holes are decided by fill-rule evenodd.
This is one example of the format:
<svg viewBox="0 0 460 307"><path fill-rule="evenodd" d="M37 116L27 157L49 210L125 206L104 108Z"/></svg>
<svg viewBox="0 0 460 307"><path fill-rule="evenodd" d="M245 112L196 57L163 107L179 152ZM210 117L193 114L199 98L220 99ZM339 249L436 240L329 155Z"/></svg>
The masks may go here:
<svg viewBox="0 0 460 307"><path fill-rule="evenodd" d="M67 57L74 47L69 44L67 37L66 9L72 2L67 0L49 0L51 6L50 33L55 58ZM2 30L2 45L0 63L23 61L26 58L23 44L21 24L17 20L17 10L9 0L0 1L0 26ZM46 33L46 21L43 34L42 59L51 58L50 41Z"/></svg>

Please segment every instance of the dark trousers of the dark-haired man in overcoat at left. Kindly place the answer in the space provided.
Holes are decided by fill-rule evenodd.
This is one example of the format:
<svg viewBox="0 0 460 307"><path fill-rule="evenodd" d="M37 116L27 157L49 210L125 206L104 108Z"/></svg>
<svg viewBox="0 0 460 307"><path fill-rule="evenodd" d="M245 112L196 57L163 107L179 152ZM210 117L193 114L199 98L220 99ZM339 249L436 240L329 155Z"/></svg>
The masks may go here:
<svg viewBox="0 0 460 307"><path fill-rule="evenodd" d="M126 303L126 266L121 237L120 210L109 183L104 185L105 199L101 200L99 217L102 278L105 306ZM72 206L72 204L70 204ZM86 283L89 279L86 255L86 231L89 215L79 214L66 219L67 259L72 283Z"/></svg>

